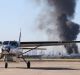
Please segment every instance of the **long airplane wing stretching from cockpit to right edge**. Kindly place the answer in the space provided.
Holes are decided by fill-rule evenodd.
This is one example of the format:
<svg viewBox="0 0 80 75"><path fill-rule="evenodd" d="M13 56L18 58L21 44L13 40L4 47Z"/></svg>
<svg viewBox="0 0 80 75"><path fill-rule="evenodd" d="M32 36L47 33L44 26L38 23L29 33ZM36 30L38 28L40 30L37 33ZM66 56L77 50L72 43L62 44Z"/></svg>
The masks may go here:
<svg viewBox="0 0 80 75"><path fill-rule="evenodd" d="M20 42L20 47L40 47L40 46L58 46L71 43L80 43L80 41L37 41L37 42Z"/></svg>

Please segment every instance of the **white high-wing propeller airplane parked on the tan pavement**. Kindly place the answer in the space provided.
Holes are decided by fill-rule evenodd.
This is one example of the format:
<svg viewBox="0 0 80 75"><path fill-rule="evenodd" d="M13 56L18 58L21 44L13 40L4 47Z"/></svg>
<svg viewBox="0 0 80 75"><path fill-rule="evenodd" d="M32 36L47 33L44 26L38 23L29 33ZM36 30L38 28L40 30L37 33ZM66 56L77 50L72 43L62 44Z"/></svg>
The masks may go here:
<svg viewBox="0 0 80 75"><path fill-rule="evenodd" d="M21 42L21 32L20 32L19 41L0 42L0 46L1 46L0 58L4 57L5 68L8 68L9 56L16 56L17 58L22 58L24 62L27 64L27 68L30 68L30 65L31 65L30 61L26 61L23 56L25 53L30 52L34 49L38 49L38 47L40 46L58 46L58 45L67 45L67 44L72 44L72 43L80 43L80 41ZM29 50L23 53L22 49L29 49Z"/></svg>

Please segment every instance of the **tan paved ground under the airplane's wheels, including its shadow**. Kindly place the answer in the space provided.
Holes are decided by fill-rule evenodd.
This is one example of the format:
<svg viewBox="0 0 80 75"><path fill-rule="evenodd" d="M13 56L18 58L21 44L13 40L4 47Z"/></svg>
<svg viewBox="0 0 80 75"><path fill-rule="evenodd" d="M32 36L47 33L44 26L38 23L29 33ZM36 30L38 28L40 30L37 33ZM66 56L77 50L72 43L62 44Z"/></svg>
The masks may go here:
<svg viewBox="0 0 80 75"><path fill-rule="evenodd" d="M0 75L80 75L80 62L34 61L31 69L24 62L9 63L5 69L4 62L0 62Z"/></svg>

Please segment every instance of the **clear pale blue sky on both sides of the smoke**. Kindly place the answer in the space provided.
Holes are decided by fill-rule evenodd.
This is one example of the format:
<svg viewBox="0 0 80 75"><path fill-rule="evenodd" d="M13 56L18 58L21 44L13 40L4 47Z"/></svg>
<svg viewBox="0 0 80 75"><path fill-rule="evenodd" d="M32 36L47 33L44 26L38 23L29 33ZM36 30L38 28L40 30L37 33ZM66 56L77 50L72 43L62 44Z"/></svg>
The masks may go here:
<svg viewBox="0 0 80 75"><path fill-rule="evenodd" d="M0 40L18 40L20 28L22 41L47 40L35 25L41 8L31 0L0 0ZM74 21L80 24L80 0Z"/></svg>

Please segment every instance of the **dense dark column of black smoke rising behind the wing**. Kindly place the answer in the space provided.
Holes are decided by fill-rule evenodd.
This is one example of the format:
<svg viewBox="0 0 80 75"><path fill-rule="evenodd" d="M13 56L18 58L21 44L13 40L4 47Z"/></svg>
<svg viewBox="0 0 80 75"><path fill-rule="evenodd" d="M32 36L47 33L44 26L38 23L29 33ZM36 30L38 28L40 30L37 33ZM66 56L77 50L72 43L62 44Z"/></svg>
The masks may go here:
<svg viewBox="0 0 80 75"><path fill-rule="evenodd" d="M62 41L76 40L79 33L79 25L70 21L70 18L75 13L75 0L48 0L48 3L53 6L58 15L58 30L60 31L60 38ZM78 53L76 44L65 45L68 54Z"/></svg>

